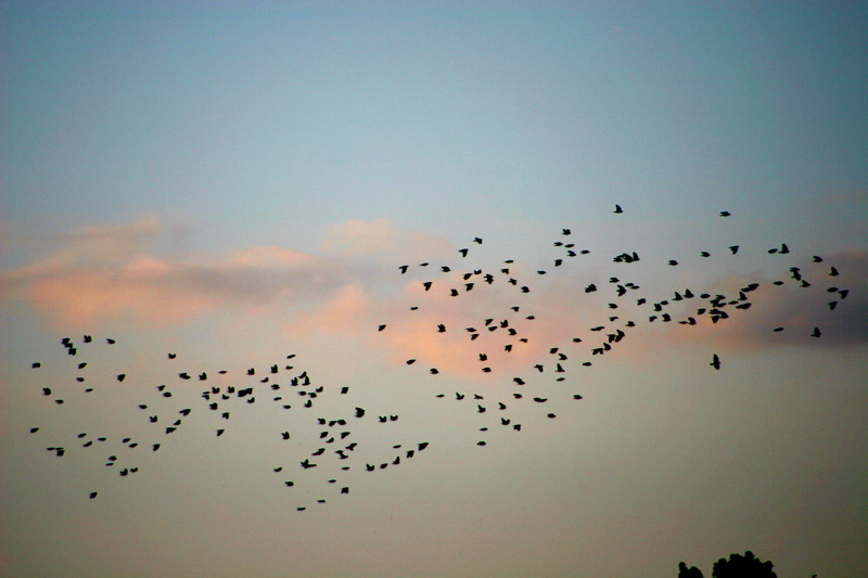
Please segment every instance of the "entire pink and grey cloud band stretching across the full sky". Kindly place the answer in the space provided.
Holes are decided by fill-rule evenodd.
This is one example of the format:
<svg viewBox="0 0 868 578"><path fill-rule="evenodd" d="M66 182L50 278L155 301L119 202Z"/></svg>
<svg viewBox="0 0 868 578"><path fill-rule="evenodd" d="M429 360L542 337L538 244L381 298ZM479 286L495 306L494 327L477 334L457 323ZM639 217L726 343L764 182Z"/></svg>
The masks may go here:
<svg viewBox="0 0 868 578"><path fill-rule="evenodd" d="M155 256L149 248L163 234L155 219L81 228L61 235L61 245L47 257L0 273L0 288L7 299L27 301L51 323L72 329L102 320L165 326L227 310L280 311L280 323L295 336L353 336L383 348L395 364L416 359L425 371L436 368L480 380L519 374L540 360L547 371L558 361L565 367L596 362L591 350L611 343L610 335L618 330L625 338L612 344L607 359L627 350L630 359L644 359L654 347L704 342L718 348L805 343L828 347L868 337L868 256L858 252L832 255L821 264L800 262L809 287L789 275L781 286L762 274L709 280L703 291L730 297L752 282L760 288L749 294L750 309L729 307L729 319L716 324L707 313L695 313L695 308L707 307L699 297L668 305L674 320L697 318L698 324L688 326L650 324L651 305L637 307L634 292L615 296L610 283L586 293L584 287L596 274L588 269L565 272L564 267L538 275L512 264L490 270L488 283L488 271L474 269L478 264L473 252L481 247L474 245L464 259L446 241L399 231L387 219L332 227L322 244L331 256L271 246ZM429 259L430 266L420 265ZM411 264L406 274L397 269L401 262ZM450 271L441 270L445 264ZM835 277L828 274L832 266ZM510 283L514 278L520 281ZM425 281L432 282L429 290ZM523 285L531 291L523 292ZM846 298L839 293L844 290ZM831 310L827 304L834 300ZM615 303L617 308L611 308ZM626 327L628 320L636 326ZM382 332L381 324L386 325ZM604 329L591 330L600 326ZM784 331L771 331L777 326ZM822 338L809 337L815 326ZM471 339L473 334L477 337ZM554 347L558 355L551 352Z"/></svg>

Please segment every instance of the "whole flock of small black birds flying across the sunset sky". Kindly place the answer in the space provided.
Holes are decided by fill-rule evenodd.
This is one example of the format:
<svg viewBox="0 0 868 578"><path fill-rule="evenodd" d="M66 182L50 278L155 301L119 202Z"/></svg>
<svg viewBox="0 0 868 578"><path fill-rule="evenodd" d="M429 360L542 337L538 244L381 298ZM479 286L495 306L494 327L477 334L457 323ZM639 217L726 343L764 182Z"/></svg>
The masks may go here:
<svg viewBox="0 0 868 578"><path fill-rule="evenodd" d="M624 210L616 205L613 213L621 215ZM730 214L720 211L719 216L728 218ZM751 314L748 312L753 305L751 296L757 291L766 290L765 286L761 287L762 284L758 282L748 283L730 295L680 287L674 290L671 295L654 298L641 292L641 286L637 282L623 279L630 272L628 266L644 257L633 251L609 255L607 257L620 268L618 274L609 277L604 283L599 281L588 283L575 296L578 300L586 296L584 294L602 295L608 301L605 314L601 314L600 319L589 326L575 327L574 336L563 343L540 344L537 342L541 337L535 337L540 333L533 331L533 324L539 320L533 311L534 301L527 299L527 294L535 291L534 279L540 279L554 271L562 271L562 274L569 275L571 261L579 260L590 253L572 242L572 231L562 229L552 241L556 254L551 259L551 266L529 274L523 272L523 268L512 259L503 260L500 266L492 270L468 267L465 264L473 261L476 251L474 247L483 245L483 240L480 237L473 239L468 247L459 249L454 259L447 262L404 264L396 268L397 281L409 279L410 283L419 283L417 295L420 296L420 300L410 307L409 317L396 316L398 321L383 320L372 326L370 331L378 337L386 337L396 329L399 331L400 324L408 323L407 319L412 319L412 316L441 311L444 303L447 304L446 307L459 304L471 292L477 299L485 299L486 291L498 292L497 298L495 293L492 293L490 299L484 301L490 305L485 314L478 319L468 319L468 316L462 318L469 321L464 326L454 326L454 323L443 320L430 327L432 338L459 339L460 346L454 346L455 341L449 342L452 344L449 347L455 347L456 355L472 356L473 362L478 364L478 372L496 381L494 386L487 387L482 394L467 390L439 390L434 394L439 400L438 403L463 404L462 411L475 416L473 419L477 421L474 422L474 431L477 434L472 438L472 442L477 446L486 446L490 441L488 433L493 428L521 432L524 425L522 420L535 416L542 421L558 418L565 403L575 403L583 399L582 393L575 389L579 381L569 380L567 375L583 371L583 368L590 368L598 360L603 361L604 356L610 355L641 326L653 323L715 326L737 316ZM739 245L722 247L715 253L723 253L728 258L742 255L739 253ZM768 248L767 253L788 255L790 251L786 244L781 244ZM700 256L711 258L712 252L703 251ZM813 261L828 267L821 279L808 279L807 272L797 266L792 266L789 268L787 279L775 281L770 285L774 287L790 284L800 290L812 286L816 290L817 286L821 286L831 298L825 305L829 310L834 310L838 304L847 297L848 291L831 282L822 282L839 275L834 266L826 265L819 256L813 256ZM676 267L678 261L669 259L667 266ZM816 272L813 271L812 274ZM774 291L773 287L769 290ZM480 297L480 294L483 296ZM510 299L509 305L498 305L505 299ZM432 305L434 300L436 306ZM768 327L768 331L778 333L786 330L788 327L784 326ZM820 327L810 327L808 331L799 327L799 331L803 331L806 341L820 338L822 335ZM165 449L168 444L181 437L179 433L191 421L209 423L214 440L224 442L231 437L228 434L232 432L237 415L259 411L257 408L264 404L272 412L280 413L280 415L269 413L265 419L266 423L275 423L272 439L291 444L291 450L281 454L282 458L275 460L270 466L270 473L278 479L276 484L294 488L297 483L307 479L306 476L316 473L317 467L329 472L326 478L319 479L319 483L324 485L317 490L317 498L311 500L312 503L326 503L332 497L348 494L356 472L368 475L394 468L411 460L418 460L419 454L429 447L429 441L425 439L393 438L391 441L394 442L388 444L385 450L374 448L375 444L356 434L359 431L357 424L365 423L366 427L362 428L365 432L370 431L368 423L375 424L374 427L387 428L390 424L399 420L399 415L390 412L380 414L376 408L356 406L349 386L333 387L317 382L308 371L294 365L296 356L293 354L265 368L233 372L219 370L209 374L208 371L191 371L189 368L183 368L183 356L179 358L177 354L169 352L163 363L169 364L167 367L173 369L174 381L145 384L137 381L132 370L129 374L93 375L93 367L104 359L106 348L117 346L114 338L97 338L91 335L84 335L80 338L63 337L61 346L66 356L75 358L72 364L75 375L62 383L41 385L41 395L46 403L60 408L69 407L69 403L66 403L69 399L75 399L77 404L87 403L112 387L118 387L120 384L128 386L135 382L133 387L140 399L129 410L132 420L144 426L144 429L140 428L139 432L143 433L138 435L112 436L103 433L93 434L82 428L65 439L46 439L41 447L44 447L50 455L66 460L76 459L87 452L100 455L102 457L99 460L100 467L123 478L136 477L144 463L149 467L155 465L153 457L158 455L161 449ZM539 356L526 363L510 359L512 356L524 360L527 358L524 354L528 351L537 351ZM724 360L718 354L710 351L709 355L709 364L715 371L724 368ZM436 381L439 378L438 375L449 371L426 361L429 359L423 355L406 359L406 371L410 372L414 383L421 378L420 373L430 375L431 380ZM41 360L31 362L33 370L41 370L43 363L46 362ZM191 382L197 383L201 388L196 398L197 404L190 401ZM560 385L553 387L553 384ZM564 394L566 386L571 390ZM436 382L433 387L436 387ZM496 394L493 395L492 391ZM327 398L342 401L343 403L337 406L347 408L346 411L329 414L328 411L332 410L320 410L319 402ZM327 408L333 406L334 403L330 403ZM522 411L515 412L516 408L521 408ZM444 408L443 411L455 410L450 407ZM309 435L310 432L316 434ZM39 438L44 432L39 424L35 424L29 433ZM299 434L309 439L298 439ZM286 458L286 454L290 458ZM146 459L145 455L150 458ZM332 474L333 472L340 473ZM99 491L99 488L93 488L86 498L95 499ZM308 505L310 505L308 502L301 503L297 510L304 511Z"/></svg>

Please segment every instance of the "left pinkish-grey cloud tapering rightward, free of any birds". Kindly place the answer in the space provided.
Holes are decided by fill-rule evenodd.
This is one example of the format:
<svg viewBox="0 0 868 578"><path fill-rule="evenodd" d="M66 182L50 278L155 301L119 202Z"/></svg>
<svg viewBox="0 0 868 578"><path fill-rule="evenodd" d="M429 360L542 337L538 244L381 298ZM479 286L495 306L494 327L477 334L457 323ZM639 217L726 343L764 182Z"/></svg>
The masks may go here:
<svg viewBox="0 0 868 578"><path fill-rule="evenodd" d="M224 306L319 301L349 282L345 264L281 247L156 257L146 248L159 231L155 220L81 228L48 257L4 271L3 293L59 325L105 318L165 325Z"/></svg>

